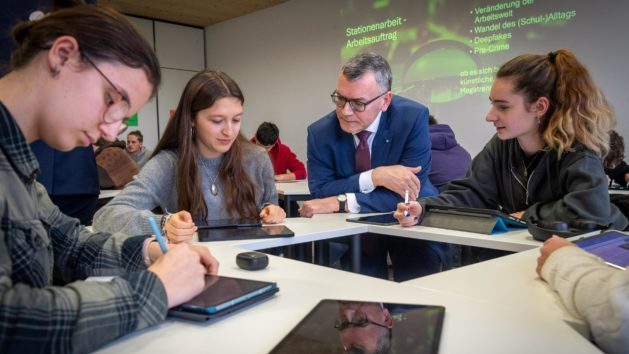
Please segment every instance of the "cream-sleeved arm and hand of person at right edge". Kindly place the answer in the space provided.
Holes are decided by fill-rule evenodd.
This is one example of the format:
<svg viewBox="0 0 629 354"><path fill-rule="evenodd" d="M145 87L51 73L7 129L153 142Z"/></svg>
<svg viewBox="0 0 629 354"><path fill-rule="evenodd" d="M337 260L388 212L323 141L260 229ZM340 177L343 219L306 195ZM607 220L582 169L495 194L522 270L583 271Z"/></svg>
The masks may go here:
<svg viewBox="0 0 629 354"><path fill-rule="evenodd" d="M590 327L606 353L629 348L629 270L611 268L599 257L553 236L544 242L537 273L561 297L566 309Z"/></svg>

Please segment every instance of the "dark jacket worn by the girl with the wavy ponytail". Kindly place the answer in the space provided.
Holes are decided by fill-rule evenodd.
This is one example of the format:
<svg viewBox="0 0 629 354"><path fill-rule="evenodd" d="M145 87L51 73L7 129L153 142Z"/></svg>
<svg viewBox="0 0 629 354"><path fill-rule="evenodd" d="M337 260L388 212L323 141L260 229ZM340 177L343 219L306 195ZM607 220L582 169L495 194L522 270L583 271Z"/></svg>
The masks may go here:
<svg viewBox="0 0 629 354"><path fill-rule="evenodd" d="M528 180L524 169L517 140L494 136L474 158L466 178L450 182L440 195L421 202L507 213L524 210L524 219L587 219L620 230L627 225L627 219L609 202L600 158L583 145L576 144L561 159L554 150L543 153Z"/></svg>

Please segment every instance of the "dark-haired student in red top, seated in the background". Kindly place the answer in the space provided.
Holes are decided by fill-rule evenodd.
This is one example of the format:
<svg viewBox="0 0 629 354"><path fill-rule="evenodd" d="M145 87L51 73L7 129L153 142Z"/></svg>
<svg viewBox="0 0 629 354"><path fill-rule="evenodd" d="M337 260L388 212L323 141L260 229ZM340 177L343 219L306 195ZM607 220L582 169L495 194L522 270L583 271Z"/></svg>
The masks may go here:
<svg viewBox="0 0 629 354"><path fill-rule="evenodd" d="M264 122L258 126L256 135L251 141L264 147L269 153L276 181L292 181L306 178L306 166L297 159L297 155L291 149L282 144L280 130L277 125Z"/></svg>

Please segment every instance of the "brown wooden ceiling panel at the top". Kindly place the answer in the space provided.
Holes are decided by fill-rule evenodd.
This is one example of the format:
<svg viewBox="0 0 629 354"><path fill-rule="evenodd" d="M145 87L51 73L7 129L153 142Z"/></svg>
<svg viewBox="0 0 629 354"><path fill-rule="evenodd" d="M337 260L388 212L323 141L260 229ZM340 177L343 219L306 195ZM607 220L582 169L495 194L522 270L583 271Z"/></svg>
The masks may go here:
<svg viewBox="0 0 629 354"><path fill-rule="evenodd" d="M98 0L127 15L206 27L289 0Z"/></svg>

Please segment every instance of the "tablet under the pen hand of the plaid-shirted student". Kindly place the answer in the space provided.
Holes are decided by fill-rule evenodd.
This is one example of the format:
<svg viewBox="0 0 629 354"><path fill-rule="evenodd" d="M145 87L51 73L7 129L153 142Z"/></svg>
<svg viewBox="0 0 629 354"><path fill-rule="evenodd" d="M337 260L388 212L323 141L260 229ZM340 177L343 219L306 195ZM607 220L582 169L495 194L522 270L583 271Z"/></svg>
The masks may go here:
<svg viewBox="0 0 629 354"><path fill-rule="evenodd" d="M279 291L276 283L207 275L205 289L169 314L192 320L209 320L259 302Z"/></svg>

